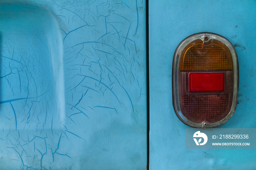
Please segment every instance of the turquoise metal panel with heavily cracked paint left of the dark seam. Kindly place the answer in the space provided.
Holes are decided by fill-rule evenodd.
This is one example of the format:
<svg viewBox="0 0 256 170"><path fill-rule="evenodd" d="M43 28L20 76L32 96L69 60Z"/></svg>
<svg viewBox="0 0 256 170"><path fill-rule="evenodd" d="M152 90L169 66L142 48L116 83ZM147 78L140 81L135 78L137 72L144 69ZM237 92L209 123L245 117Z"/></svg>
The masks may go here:
<svg viewBox="0 0 256 170"><path fill-rule="evenodd" d="M146 169L145 2L0 2L0 169Z"/></svg>

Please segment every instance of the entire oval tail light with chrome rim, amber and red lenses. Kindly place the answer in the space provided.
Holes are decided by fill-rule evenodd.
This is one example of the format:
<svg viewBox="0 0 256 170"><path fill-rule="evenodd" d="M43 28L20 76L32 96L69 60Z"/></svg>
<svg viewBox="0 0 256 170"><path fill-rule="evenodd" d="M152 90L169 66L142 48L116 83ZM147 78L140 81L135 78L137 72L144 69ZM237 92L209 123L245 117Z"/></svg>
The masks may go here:
<svg viewBox="0 0 256 170"><path fill-rule="evenodd" d="M217 127L233 115L238 96L238 60L233 45L212 33L189 36L173 58L173 107L191 127Z"/></svg>

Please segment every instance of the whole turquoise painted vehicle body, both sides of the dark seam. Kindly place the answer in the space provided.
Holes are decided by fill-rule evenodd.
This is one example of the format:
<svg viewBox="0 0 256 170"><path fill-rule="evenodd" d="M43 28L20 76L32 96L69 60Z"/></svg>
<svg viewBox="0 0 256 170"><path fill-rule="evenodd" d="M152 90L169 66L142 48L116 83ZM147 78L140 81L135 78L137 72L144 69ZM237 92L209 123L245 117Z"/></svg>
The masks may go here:
<svg viewBox="0 0 256 170"><path fill-rule="evenodd" d="M186 149L172 105L176 47L213 32L239 63L219 128L256 126L255 16L255 1L1 0L0 169L256 169L254 150Z"/></svg>

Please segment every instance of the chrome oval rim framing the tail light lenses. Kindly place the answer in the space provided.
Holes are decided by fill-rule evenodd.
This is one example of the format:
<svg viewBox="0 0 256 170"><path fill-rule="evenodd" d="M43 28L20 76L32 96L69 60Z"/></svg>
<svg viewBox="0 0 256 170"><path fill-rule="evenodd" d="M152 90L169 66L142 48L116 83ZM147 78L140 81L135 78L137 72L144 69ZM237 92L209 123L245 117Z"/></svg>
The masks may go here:
<svg viewBox="0 0 256 170"><path fill-rule="evenodd" d="M207 39L206 39L207 37ZM217 121L215 123L208 123L208 122L202 122L202 123L195 123L191 120L188 120L182 113L181 111L181 106L180 106L180 89L179 89L179 71L180 71L180 57L182 50L191 42L195 40L205 40L209 41L211 39L218 40L219 42L225 44L230 52L231 56L233 59L233 78L234 78L234 85L233 85L233 100L232 100L232 105L229 113L227 114L226 117L224 117L222 120ZM236 50L234 49L234 46L224 38L223 36L220 36L218 34L214 33L208 33L208 32L202 32L198 34L191 35L187 38L185 38L177 47L174 57L173 57L173 70L172 70L172 92L173 92L173 108L174 111L177 115L177 117L186 125L194 127L194 128L212 128L212 127L217 127L219 125L222 125L225 123L227 120L230 119L230 117L234 114L234 111L236 109L237 105L237 97L238 97L238 85L239 85L239 72L238 72L238 59L237 59L237 53Z"/></svg>

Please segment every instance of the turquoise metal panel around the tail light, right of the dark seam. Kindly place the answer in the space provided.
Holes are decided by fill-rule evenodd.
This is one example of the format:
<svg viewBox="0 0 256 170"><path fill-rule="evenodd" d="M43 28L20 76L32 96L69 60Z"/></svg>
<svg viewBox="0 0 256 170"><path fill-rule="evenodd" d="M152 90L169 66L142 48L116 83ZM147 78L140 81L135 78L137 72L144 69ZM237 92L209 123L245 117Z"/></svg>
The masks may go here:
<svg viewBox="0 0 256 170"><path fill-rule="evenodd" d="M239 97L221 128L256 127L255 1L150 1L150 169L256 169L255 150L185 149L185 128L172 106L172 60L176 47L197 32L230 40L239 62Z"/></svg>

